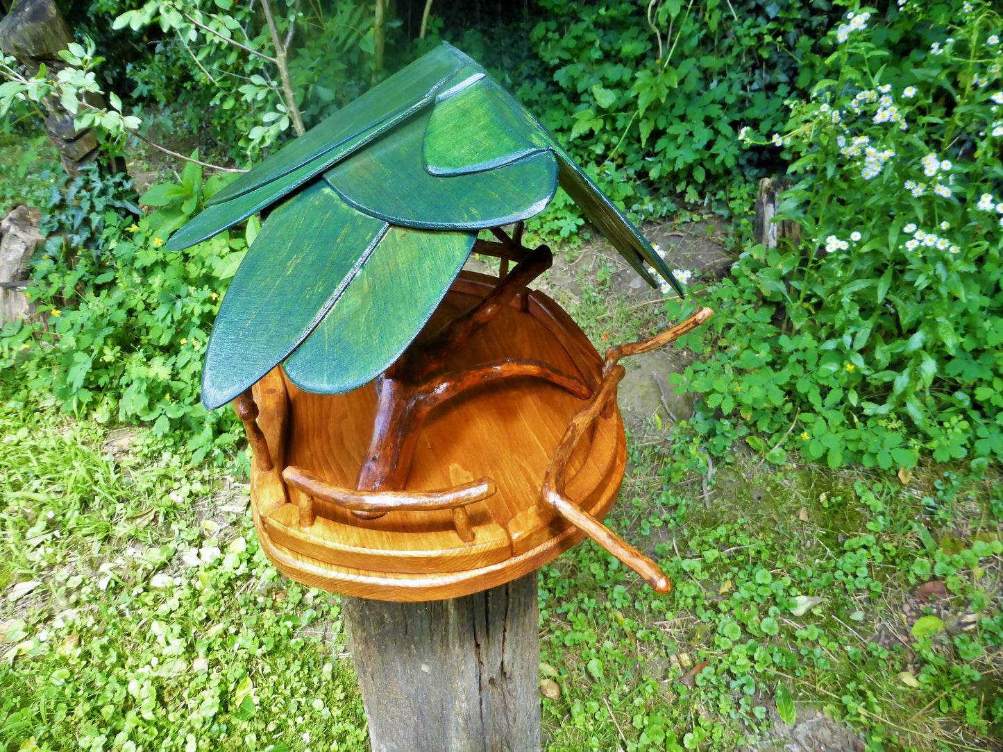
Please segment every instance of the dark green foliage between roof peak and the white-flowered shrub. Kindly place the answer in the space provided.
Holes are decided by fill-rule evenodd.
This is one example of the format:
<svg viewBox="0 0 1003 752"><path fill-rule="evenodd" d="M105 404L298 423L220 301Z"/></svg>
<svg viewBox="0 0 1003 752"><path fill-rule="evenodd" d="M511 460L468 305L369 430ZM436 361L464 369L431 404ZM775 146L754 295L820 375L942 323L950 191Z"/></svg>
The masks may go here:
<svg viewBox="0 0 1003 752"><path fill-rule="evenodd" d="M615 201L660 217L674 209L673 192L687 201L723 197L736 174L759 173L760 155L743 151L735 135L750 123L783 122L783 99L810 80L813 32L831 4L543 0L541 7L545 20L531 39L545 68L517 95L576 158L598 164Z"/></svg>

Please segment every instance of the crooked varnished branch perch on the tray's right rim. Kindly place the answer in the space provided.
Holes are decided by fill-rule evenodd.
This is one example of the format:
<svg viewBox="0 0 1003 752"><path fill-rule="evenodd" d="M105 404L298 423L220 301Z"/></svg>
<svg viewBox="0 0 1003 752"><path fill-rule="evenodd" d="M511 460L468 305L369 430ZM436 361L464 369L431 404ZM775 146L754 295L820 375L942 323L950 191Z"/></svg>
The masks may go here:
<svg viewBox="0 0 1003 752"><path fill-rule="evenodd" d="M703 324L714 312L709 308L700 309L695 315L661 334L641 342L611 347L606 351L603 362L603 382L586 405L576 414L564 436L554 450L554 457L544 475L544 485L540 498L551 509L567 519L573 525L585 532L609 553L619 558L634 572L640 575L648 585L659 593L668 593L672 584L653 560L644 555L633 545L625 541L609 527L585 511L565 493L565 475L568 463L579 440L599 418L600 414L612 404L616 395L617 385L626 371L619 360L631 355L651 352L659 347L673 342L685 334L689 334Z"/></svg>

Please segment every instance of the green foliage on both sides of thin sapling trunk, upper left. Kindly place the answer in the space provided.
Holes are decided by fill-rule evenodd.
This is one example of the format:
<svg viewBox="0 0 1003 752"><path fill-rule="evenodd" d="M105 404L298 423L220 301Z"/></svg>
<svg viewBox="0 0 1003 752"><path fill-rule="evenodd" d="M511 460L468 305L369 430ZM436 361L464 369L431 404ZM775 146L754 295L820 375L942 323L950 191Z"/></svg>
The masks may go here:
<svg viewBox="0 0 1003 752"><path fill-rule="evenodd" d="M365 90L371 73L373 14L347 0L276 2L275 24L288 49L295 106L307 127ZM250 3L149 0L124 9L116 29L163 34L156 54L136 66L135 94L161 104L184 91L193 128L258 158L294 136L276 48L260 7ZM249 50L253 50L249 51Z"/></svg>

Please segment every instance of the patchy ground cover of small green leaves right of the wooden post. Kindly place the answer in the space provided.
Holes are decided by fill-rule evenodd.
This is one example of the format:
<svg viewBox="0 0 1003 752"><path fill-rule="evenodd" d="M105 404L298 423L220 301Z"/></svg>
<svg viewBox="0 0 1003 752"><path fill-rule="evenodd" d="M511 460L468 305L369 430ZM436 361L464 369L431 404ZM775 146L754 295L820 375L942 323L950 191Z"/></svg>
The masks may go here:
<svg viewBox="0 0 1003 752"><path fill-rule="evenodd" d="M869 749L1003 741L998 478L930 468L904 487L734 458L708 508L686 448L635 452L608 520L654 549L672 594L591 543L543 571L543 661L561 688L544 701L548 749L766 744L793 712L778 713L785 693L801 720L843 721ZM950 600L917 639L902 605L929 580ZM879 645L889 633L908 646Z"/></svg>

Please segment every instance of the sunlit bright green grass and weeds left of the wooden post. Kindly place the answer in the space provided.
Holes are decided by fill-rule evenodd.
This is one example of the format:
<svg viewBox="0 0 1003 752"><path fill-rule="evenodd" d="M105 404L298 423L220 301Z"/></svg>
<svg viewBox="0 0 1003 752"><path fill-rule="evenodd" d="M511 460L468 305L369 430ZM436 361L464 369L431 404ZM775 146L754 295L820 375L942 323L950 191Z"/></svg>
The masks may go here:
<svg viewBox="0 0 1003 752"><path fill-rule="evenodd" d="M362 748L337 602L278 577L233 489L37 405L0 433L0 748Z"/></svg>

